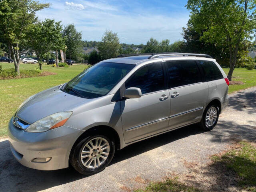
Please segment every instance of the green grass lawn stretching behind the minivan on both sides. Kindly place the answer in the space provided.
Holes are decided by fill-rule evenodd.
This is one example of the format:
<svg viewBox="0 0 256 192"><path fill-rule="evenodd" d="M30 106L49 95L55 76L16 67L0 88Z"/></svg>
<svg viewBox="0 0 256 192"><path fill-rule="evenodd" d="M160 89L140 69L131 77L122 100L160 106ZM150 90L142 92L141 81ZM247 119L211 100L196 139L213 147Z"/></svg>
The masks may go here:
<svg viewBox="0 0 256 192"><path fill-rule="evenodd" d="M2 69L14 68L13 63L0 63ZM21 69L38 68L38 64L20 64ZM0 137L6 136L6 125L20 104L29 96L47 88L68 82L86 68L84 65L73 65L69 68L53 68L52 65L43 65L43 71L57 73L50 76L32 78L0 80ZM227 73L228 69L224 69ZM230 86L230 92L256 86L256 70L235 69L234 80L243 81L244 85Z"/></svg>

